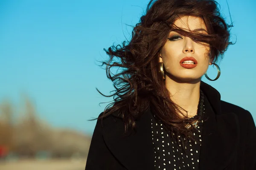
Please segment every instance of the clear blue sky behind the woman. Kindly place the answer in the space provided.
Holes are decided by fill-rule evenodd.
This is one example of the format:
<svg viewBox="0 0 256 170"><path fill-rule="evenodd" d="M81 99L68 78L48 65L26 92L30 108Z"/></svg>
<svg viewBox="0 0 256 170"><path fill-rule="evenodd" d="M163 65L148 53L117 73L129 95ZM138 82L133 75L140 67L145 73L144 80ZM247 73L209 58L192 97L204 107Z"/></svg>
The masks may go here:
<svg viewBox="0 0 256 170"><path fill-rule="evenodd" d="M225 0L218 0L228 23ZM255 0L228 0L234 27L231 45L220 63L221 77L209 83L221 99L250 111L256 120ZM129 39L131 27L148 0L1 0L0 102L9 99L22 109L21 94L35 104L41 119L55 127L92 134L94 122L113 90L96 60L103 48ZM209 76L216 70L209 68Z"/></svg>

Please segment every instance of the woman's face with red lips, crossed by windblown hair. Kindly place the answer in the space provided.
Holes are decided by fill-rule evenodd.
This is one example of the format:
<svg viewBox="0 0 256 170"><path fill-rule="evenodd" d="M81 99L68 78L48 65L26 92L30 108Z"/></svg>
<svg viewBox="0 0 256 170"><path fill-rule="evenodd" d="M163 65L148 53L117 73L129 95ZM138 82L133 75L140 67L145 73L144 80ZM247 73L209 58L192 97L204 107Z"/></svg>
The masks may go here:
<svg viewBox="0 0 256 170"><path fill-rule="evenodd" d="M204 21L199 17L183 16L174 24L186 31L190 29L207 34ZM163 62L166 69L166 79L176 79L182 82L201 79L210 62L209 45L198 44L189 37L171 31L160 51L160 62Z"/></svg>

